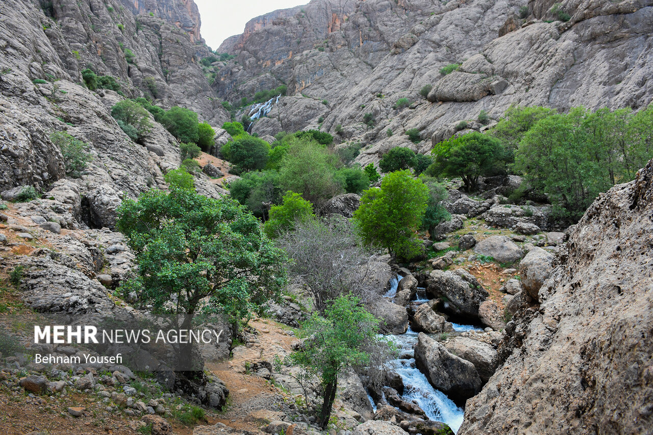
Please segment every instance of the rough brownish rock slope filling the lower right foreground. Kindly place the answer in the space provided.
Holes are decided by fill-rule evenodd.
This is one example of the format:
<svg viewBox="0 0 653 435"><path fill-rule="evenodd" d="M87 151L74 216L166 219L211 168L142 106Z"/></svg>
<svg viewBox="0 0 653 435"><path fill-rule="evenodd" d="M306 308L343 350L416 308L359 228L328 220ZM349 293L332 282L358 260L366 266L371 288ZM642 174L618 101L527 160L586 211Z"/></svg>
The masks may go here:
<svg viewBox="0 0 653 435"><path fill-rule="evenodd" d="M643 434L653 424L653 161L590 206L460 434Z"/></svg>

